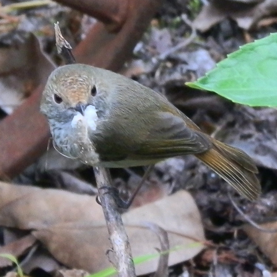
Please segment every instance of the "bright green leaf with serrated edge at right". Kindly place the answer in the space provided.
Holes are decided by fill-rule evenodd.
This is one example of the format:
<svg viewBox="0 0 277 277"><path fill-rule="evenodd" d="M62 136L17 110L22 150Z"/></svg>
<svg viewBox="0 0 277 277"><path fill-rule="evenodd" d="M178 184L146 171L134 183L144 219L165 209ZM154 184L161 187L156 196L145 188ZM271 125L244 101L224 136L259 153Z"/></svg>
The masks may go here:
<svg viewBox="0 0 277 277"><path fill-rule="evenodd" d="M249 106L277 106L277 33L245 44L188 86Z"/></svg>

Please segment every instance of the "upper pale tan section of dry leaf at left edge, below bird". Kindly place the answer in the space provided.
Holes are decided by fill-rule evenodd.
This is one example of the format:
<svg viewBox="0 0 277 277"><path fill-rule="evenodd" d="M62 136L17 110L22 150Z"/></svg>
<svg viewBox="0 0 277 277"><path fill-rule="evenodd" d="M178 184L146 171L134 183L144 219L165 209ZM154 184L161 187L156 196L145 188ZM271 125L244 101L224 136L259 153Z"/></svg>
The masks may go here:
<svg viewBox="0 0 277 277"><path fill-rule="evenodd" d="M0 182L0 203L0 225L19 229L103 217L95 197L4 182Z"/></svg>

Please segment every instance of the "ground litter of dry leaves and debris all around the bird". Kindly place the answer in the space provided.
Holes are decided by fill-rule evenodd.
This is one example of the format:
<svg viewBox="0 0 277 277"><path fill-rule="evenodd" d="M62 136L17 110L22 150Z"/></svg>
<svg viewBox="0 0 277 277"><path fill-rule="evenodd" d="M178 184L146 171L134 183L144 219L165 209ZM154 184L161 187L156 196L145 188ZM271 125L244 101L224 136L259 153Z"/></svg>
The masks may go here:
<svg viewBox="0 0 277 277"><path fill-rule="evenodd" d="M274 225L277 212L276 110L234 105L211 93L185 88L184 82L194 81L205 74L215 66L215 62L236 50L239 45L276 31L276 5L274 1L229 0L224 1L224 5L235 5L235 8L226 9L223 5L222 9L222 4L216 3L219 1L211 1L208 5L202 5L202 2L206 1L165 1L148 32L138 42L134 59L123 72L161 91L206 132L246 151L259 166L264 194L257 202L249 203L230 191L217 175L194 157L178 157L156 165L147 186L137 198L139 200L134 203L134 207L141 207L128 211L124 218L127 227L132 225L128 232L132 238L135 237L134 243L138 243L134 251L149 254L158 253L155 248L161 250L158 237L143 225L142 222L146 220L167 230L170 241L173 240L176 245L187 245L183 250L170 252L169 264L179 263L171 267L172 276L178 276L177 272L189 272L196 276L262 276L262 270L256 264L259 260L265 268L274 270L275 251L274 247L270 247L274 244L269 245L269 242L275 237L273 234L264 235L253 227L245 227L245 219L234 209L227 193L231 192L235 201L253 220L258 223L271 220ZM192 22L184 15L188 15ZM233 18L233 21L227 17ZM75 26L69 23L72 18ZM35 86L43 84L43 78L47 77L43 70L51 70L55 66L51 60L60 63L54 47L52 26L52 22L57 19L67 31L72 46L85 37L95 22L93 18L57 4L13 11L9 17L5 17L5 24L0 22L0 52L6 58L0 61L2 71L6 69L3 72L0 69L0 88L4 88L0 90L0 99L4 99L0 100L0 106L5 113L12 112L12 108L7 108L10 104L19 105ZM195 28L205 31L205 34L193 37L185 47L172 51L175 46L191 38ZM15 32L17 30L20 33ZM29 32L35 35L29 35ZM31 49L35 49L37 54L34 56L40 57L40 62L32 57ZM165 58L160 59L163 56ZM22 73L22 66L28 68L25 76L19 74ZM105 256L105 251L109 249L105 224L99 223L102 211L95 203L94 196L90 196L95 190L88 188L93 183L91 172L80 163L68 160L51 149L47 156L14 181L43 187L62 187L75 194L22 185L1 185L0 221L5 233L3 247L12 252L13 245L20 245L12 253L22 257L23 262L26 259L23 263L25 272L32 273L41 268L51 272L51 275L56 272L60 274L58 276L82 276L86 271L74 269L58 272L60 263L89 272L92 271L92 262L99 268L110 266ZM128 195L138 183L142 170L117 169L111 173L114 185ZM166 195L180 189L189 191L193 198L182 191L186 200L175 200L172 203L174 201ZM162 203L162 206L157 203ZM187 214L190 209L190 215L194 216L180 218L182 212ZM136 219L140 219L139 223ZM191 240L180 234L196 236L195 239L204 244L209 239L214 244L201 252L203 245L190 247ZM105 237L106 244L101 243L101 239L97 240L99 236L101 239ZM32 239L30 244L24 243L25 238L27 242L28 238L40 241L43 246L34 247ZM28 251L30 257L26 254ZM153 272L158 259L148 263L139 265L138 272Z"/></svg>

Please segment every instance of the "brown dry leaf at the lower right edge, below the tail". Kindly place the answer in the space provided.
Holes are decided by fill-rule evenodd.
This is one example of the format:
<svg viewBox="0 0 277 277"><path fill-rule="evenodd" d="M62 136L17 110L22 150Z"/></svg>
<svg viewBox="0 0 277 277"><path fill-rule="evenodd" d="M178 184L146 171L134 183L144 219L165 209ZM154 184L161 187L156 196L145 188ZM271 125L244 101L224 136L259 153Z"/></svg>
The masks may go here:
<svg viewBox="0 0 277 277"><path fill-rule="evenodd" d="M263 229L276 229L277 221L260 225ZM277 233L267 233L247 225L243 227L247 235L258 245L261 251L277 266Z"/></svg>

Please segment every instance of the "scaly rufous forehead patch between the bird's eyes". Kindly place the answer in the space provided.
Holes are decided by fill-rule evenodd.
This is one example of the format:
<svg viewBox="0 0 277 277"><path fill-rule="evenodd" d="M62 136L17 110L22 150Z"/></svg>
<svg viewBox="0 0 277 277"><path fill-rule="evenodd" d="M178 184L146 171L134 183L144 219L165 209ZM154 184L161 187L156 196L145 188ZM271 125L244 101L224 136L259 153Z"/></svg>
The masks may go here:
<svg viewBox="0 0 277 277"><path fill-rule="evenodd" d="M86 76L75 74L64 75L59 82L60 93L63 94L73 105L79 102L86 103L90 82Z"/></svg>

